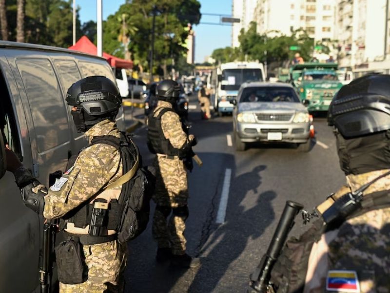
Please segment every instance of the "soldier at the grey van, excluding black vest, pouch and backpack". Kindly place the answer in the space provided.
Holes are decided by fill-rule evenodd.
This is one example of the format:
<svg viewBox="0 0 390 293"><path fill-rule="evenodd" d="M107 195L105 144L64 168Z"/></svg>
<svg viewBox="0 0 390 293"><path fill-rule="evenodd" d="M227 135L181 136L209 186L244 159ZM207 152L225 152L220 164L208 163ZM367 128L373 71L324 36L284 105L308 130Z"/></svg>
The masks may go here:
<svg viewBox="0 0 390 293"><path fill-rule="evenodd" d="M87 96L87 102L82 102L83 94ZM91 99L91 95L95 100ZM66 100L68 105L73 106L72 116L78 131L85 132L90 142L94 137L103 135L119 138L115 117L121 99L112 81L105 77L80 80L69 88ZM94 111L91 112L90 107L94 107ZM97 107L100 107L100 112ZM7 162L7 169L15 174L16 183L23 188L24 204L43 214L46 219L68 219L67 215L75 208L91 204L97 199L110 202L111 199L117 199L121 192L121 186L102 191L103 187L117 180L123 173L119 150L107 144L95 144L83 149L73 167L49 189L41 185L10 150L7 150ZM88 237L88 228L78 228L68 222L64 230L67 235ZM116 232L107 230L106 236L97 236L101 237L98 244L81 242L88 278L80 284L60 282L61 293L123 292L127 246L117 241Z"/></svg>

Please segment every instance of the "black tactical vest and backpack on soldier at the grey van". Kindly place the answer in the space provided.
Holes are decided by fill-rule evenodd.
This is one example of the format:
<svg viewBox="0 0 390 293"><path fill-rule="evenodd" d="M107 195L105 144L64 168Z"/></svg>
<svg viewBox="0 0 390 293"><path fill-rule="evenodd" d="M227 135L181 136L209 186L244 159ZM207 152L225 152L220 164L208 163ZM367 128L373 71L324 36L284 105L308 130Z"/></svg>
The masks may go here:
<svg viewBox="0 0 390 293"><path fill-rule="evenodd" d="M112 135L95 136L89 146L96 144L114 146L119 151L124 175L110 185L111 187L121 185L122 188L120 191L108 190L110 185L102 188L91 200L64 215L60 219L60 230L65 231L65 236L78 236L82 244L98 244L114 239L123 242L134 239L146 228L151 197L150 192L147 193L147 186L145 186L148 184L147 175L144 174L146 171L138 168L141 166L138 149L123 133L120 133L120 139ZM108 203L102 203L99 195L107 191L119 192L119 194L111 196ZM104 213L98 220L94 217L97 203L98 207L103 207L101 211ZM129 224L126 221L132 223ZM91 228L91 224L92 227L98 227L98 233L90 235L91 229L87 229L87 227ZM129 225L132 227L129 228ZM123 232L124 227L126 231ZM79 233L74 231L79 231Z"/></svg>

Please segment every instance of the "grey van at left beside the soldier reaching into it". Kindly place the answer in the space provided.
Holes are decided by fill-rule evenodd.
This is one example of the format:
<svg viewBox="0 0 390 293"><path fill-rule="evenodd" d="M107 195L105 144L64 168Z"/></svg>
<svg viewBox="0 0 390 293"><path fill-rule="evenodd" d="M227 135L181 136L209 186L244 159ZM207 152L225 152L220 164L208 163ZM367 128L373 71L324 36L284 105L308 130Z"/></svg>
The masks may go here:
<svg viewBox="0 0 390 293"><path fill-rule="evenodd" d="M88 144L74 126L65 97L71 84L93 75L115 83L105 59L62 48L0 42L0 127L23 165L46 186L49 174L64 171L69 157ZM122 110L117 119L124 130ZM0 292L40 292L44 219L23 205L10 172L0 179L0 198Z"/></svg>

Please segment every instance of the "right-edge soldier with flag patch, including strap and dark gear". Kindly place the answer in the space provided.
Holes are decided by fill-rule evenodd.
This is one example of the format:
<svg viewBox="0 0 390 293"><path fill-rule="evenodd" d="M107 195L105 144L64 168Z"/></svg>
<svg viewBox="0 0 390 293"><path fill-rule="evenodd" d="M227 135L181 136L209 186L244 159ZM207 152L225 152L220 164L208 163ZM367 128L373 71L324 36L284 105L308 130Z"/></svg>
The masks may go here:
<svg viewBox="0 0 390 293"><path fill-rule="evenodd" d="M287 242L271 279L277 292L390 292L389 84L390 75L367 75L332 100L328 123L347 185Z"/></svg>

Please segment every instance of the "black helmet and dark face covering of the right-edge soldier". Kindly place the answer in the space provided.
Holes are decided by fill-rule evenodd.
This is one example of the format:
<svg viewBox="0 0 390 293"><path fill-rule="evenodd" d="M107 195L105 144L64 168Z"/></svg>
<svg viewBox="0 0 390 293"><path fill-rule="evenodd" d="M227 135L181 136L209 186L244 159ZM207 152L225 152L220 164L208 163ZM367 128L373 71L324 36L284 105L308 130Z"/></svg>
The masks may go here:
<svg viewBox="0 0 390 293"><path fill-rule="evenodd" d="M390 168L390 75L344 85L331 102L340 167L346 175Z"/></svg>

